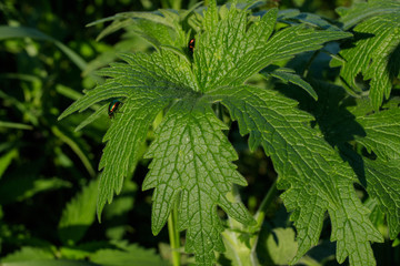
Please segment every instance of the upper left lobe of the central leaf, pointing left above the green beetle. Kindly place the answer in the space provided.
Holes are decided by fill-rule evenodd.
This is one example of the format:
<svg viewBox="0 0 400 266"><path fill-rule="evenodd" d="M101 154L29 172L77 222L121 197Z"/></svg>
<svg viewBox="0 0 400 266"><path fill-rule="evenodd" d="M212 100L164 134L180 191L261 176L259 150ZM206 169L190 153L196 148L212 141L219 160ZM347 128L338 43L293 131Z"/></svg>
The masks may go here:
<svg viewBox="0 0 400 266"><path fill-rule="evenodd" d="M73 112L82 112L104 100L129 98L131 93L138 94L141 91L146 93L148 88L164 93L168 89L192 90L197 88L190 64L171 51L162 51L151 55L123 53L120 57L128 64L112 63L110 68L98 71L99 74L112 79L108 79L103 84L87 91L84 96L76 101L60 115L59 120ZM179 91L176 93L179 94Z"/></svg>

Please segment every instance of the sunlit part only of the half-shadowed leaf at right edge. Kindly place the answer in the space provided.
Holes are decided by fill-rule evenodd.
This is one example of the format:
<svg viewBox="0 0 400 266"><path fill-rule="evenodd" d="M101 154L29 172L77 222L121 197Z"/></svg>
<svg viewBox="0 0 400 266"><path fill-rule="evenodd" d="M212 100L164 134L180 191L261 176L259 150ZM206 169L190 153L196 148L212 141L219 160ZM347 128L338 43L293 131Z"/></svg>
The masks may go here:
<svg viewBox="0 0 400 266"><path fill-rule="evenodd" d="M400 233L400 109L381 111L357 117L366 130L357 141L378 158L363 160L367 191L379 202L387 215L389 235L393 239ZM362 170L361 172L362 173Z"/></svg>

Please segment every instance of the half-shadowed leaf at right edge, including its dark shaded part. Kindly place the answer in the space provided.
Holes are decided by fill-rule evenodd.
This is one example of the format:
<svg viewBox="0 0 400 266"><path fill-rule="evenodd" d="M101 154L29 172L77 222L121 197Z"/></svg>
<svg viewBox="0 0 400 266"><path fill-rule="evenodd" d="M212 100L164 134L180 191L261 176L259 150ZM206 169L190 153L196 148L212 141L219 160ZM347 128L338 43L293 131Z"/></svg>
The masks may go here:
<svg viewBox="0 0 400 266"><path fill-rule="evenodd" d="M368 98L358 99L354 105L353 99L340 86L324 82L313 82L312 86L319 101L307 98L302 105L317 117L324 137L339 149L359 183L388 216L390 237L396 237L400 223L399 99L387 102L387 110L373 112ZM354 141L373 152L377 158L372 161L358 154L358 149L352 147Z"/></svg>

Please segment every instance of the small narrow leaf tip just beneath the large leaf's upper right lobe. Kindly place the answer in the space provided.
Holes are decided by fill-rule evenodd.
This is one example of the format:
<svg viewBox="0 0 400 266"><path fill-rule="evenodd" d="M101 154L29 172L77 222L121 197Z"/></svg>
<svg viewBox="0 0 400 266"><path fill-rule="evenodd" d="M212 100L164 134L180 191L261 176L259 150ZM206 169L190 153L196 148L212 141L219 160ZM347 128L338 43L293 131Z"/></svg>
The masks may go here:
<svg viewBox="0 0 400 266"><path fill-rule="evenodd" d="M261 70L260 74L262 74L266 78L270 75L277 78L283 81L284 84L288 84L290 82L294 85L298 85L304 91L307 91L307 93L310 94L310 96L312 96L316 101L318 100L317 92L312 89L312 86L307 81L301 79L300 75L296 74L296 72L291 69L278 68L272 70L272 68L271 69L267 68Z"/></svg>

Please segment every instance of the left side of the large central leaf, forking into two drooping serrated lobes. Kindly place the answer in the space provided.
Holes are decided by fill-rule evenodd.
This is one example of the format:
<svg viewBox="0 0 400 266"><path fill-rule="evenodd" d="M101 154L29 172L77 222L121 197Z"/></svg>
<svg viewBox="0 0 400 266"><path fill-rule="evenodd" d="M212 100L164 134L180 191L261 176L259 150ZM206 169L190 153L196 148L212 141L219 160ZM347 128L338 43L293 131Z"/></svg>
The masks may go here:
<svg viewBox="0 0 400 266"><path fill-rule="evenodd" d="M99 165L99 170L104 168L100 176L99 217L106 202L110 203L113 193L121 191L123 177L134 170L141 155L140 147L156 115L170 101L192 93L196 88L190 65L171 51L121 57L128 64L114 63L100 72L113 79L88 91L60 116L62 119L107 99L124 96L120 113L103 139L108 143Z"/></svg>

